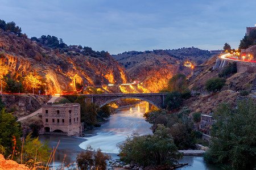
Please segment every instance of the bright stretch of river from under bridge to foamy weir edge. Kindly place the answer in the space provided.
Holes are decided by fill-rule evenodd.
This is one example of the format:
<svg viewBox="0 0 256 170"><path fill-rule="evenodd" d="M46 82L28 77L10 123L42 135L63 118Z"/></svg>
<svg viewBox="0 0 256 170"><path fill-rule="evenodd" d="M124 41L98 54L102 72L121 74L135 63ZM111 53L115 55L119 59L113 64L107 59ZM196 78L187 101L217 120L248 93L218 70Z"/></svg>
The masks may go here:
<svg viewBox="0 0 256 170"><path fill-rule="evenodd" d="M130 109L118 109L117 114L112 115L108 122L95 130L93 137L85 138L87 141L82 142L79 147L86 149L92 146L94 149L100 148L102 152L118 154L117 144L124 141L127 135L152 134L151 125L143 118L144 111L144 103Z"/></svg>

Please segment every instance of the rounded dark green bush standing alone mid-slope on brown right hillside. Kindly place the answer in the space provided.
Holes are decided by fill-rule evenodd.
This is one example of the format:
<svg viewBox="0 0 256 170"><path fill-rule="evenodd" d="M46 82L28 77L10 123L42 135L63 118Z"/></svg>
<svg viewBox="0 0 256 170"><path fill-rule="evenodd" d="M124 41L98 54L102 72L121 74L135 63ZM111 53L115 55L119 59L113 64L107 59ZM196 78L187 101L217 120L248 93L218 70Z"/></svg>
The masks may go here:
<svg viewBox="0 0 256 170"><path fill-rule="evenodd" d="M221 88L225 85L226 80L223 78L211 78L205 83L205 90L209 92L221 91Z"/></svg>

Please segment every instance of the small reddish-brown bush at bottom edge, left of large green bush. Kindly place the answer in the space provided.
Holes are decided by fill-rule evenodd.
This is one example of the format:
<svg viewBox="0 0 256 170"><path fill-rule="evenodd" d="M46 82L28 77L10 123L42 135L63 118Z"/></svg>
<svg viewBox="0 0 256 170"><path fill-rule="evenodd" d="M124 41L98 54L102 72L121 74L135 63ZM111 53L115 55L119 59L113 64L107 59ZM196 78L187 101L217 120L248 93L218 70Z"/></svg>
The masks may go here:
<svg viewBox="0 0 256 170"><path fill-rule="evenodd" d="M100 149L97 151L92 150L92 147L87 147L86 151L81 151L76 157L76 162L81 170L85 169L106 169L107 160L110 156L101 152Z"/></svg>

